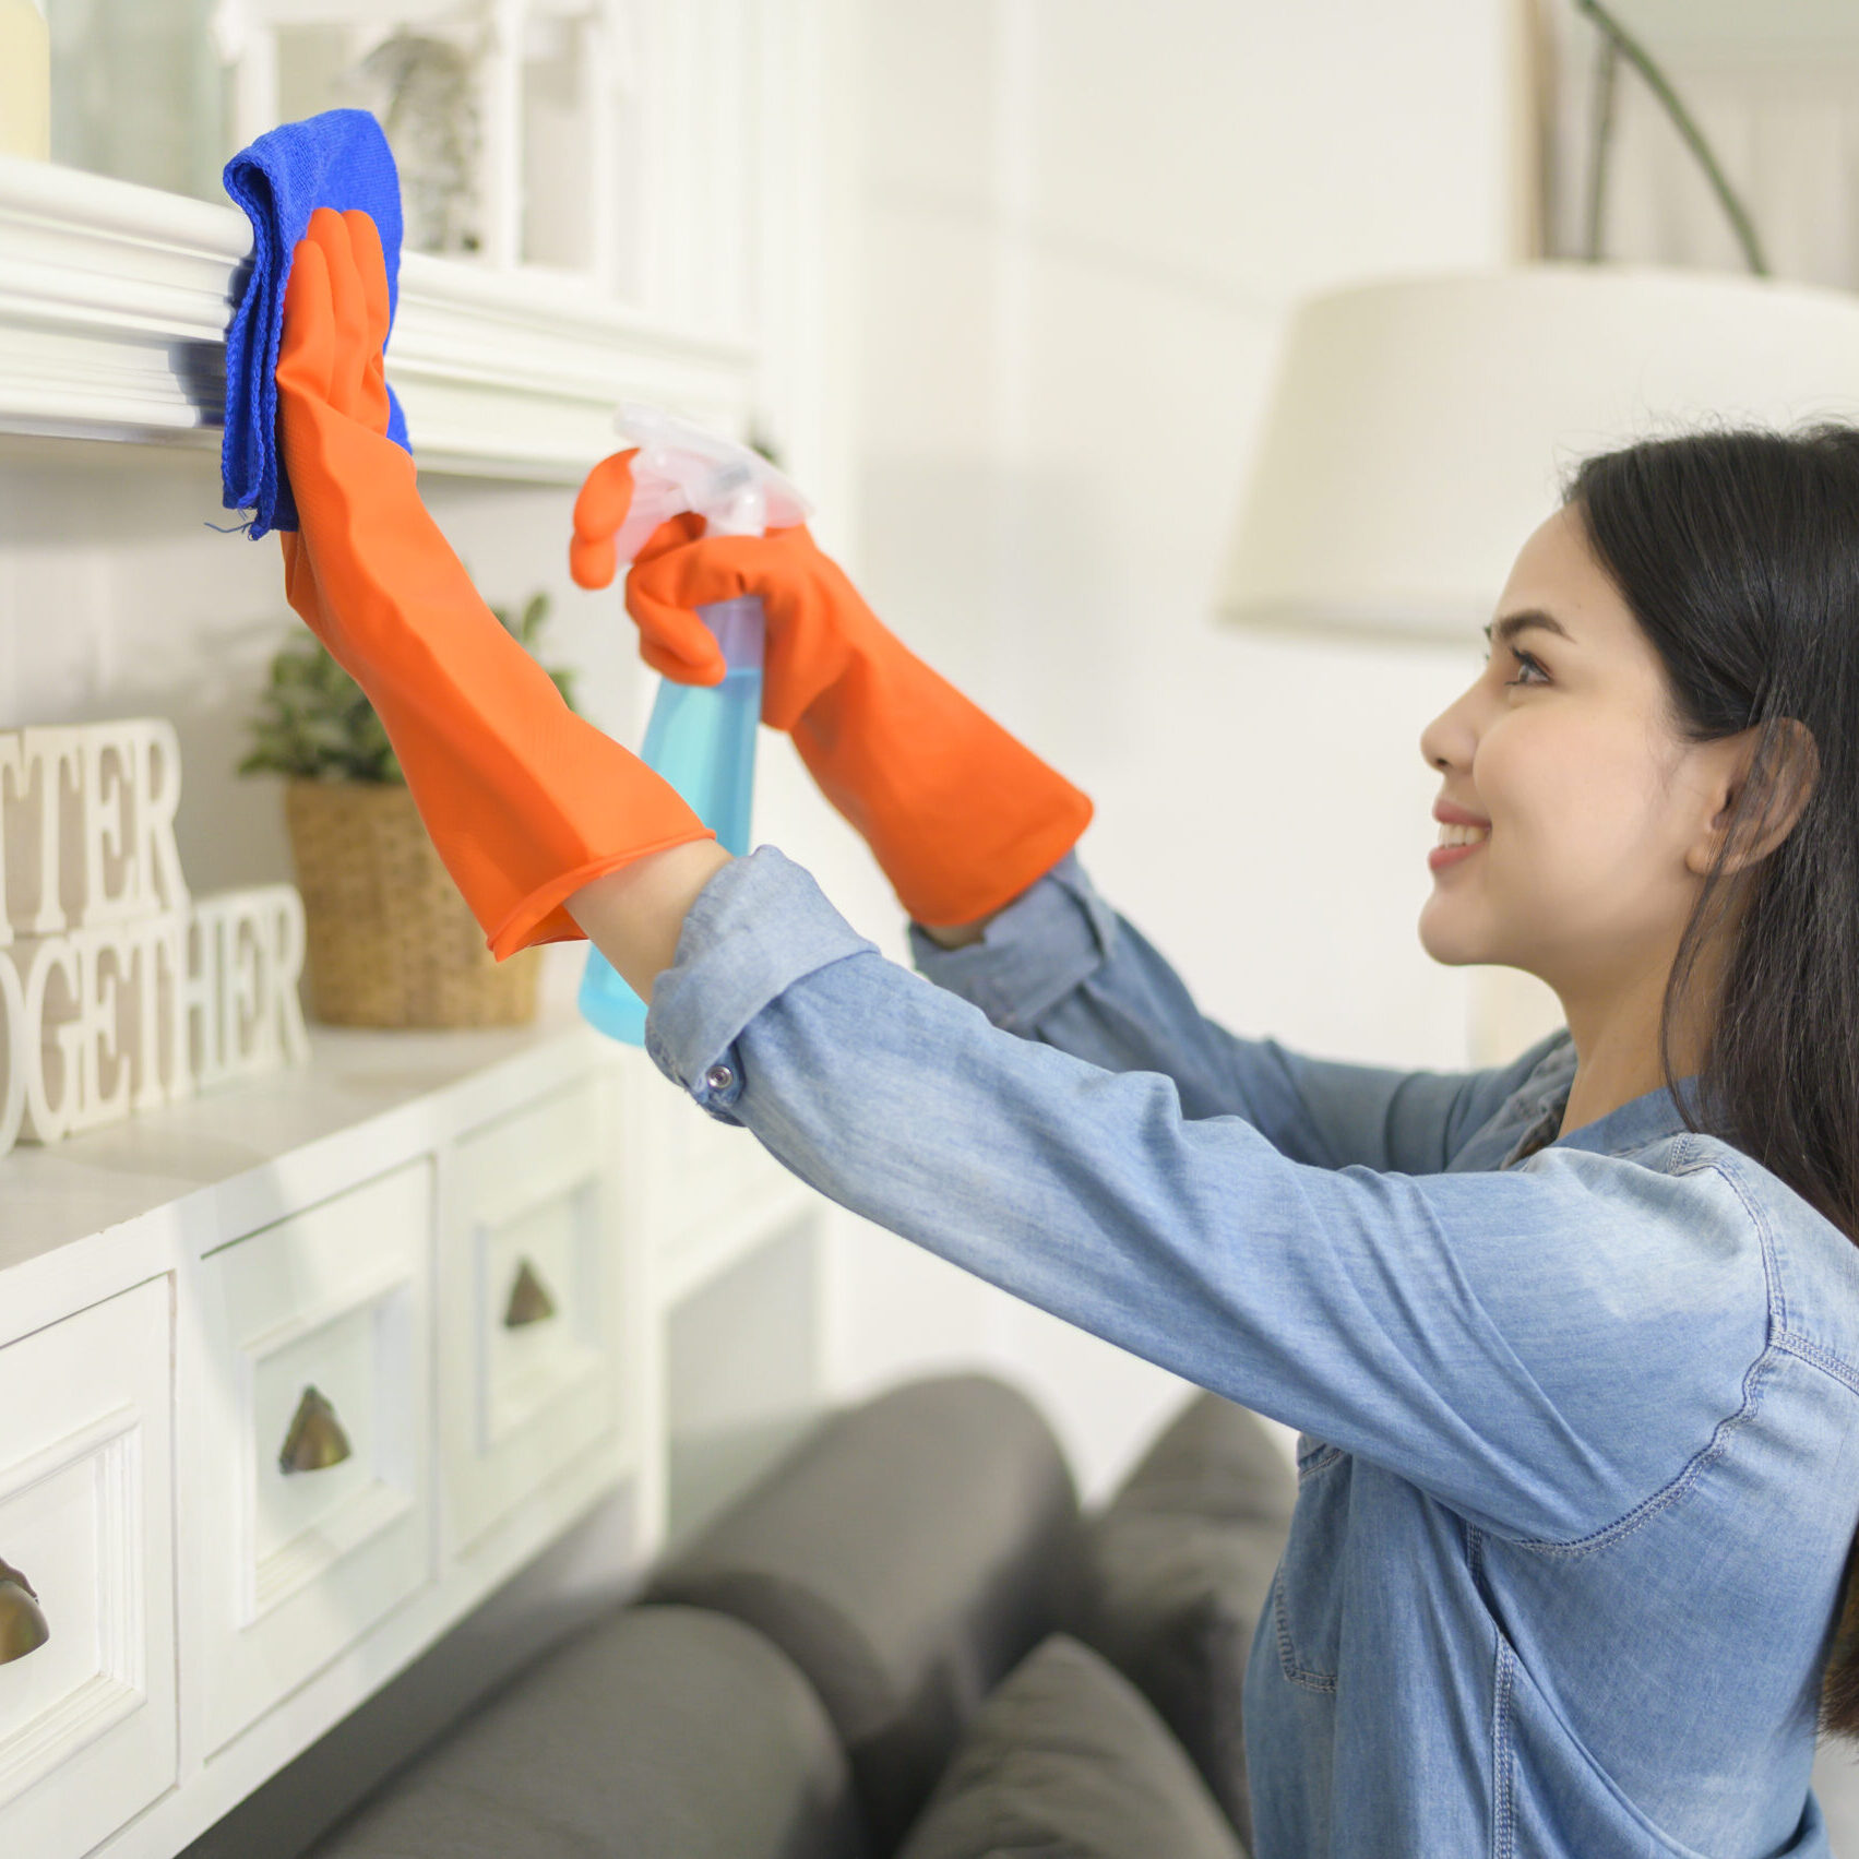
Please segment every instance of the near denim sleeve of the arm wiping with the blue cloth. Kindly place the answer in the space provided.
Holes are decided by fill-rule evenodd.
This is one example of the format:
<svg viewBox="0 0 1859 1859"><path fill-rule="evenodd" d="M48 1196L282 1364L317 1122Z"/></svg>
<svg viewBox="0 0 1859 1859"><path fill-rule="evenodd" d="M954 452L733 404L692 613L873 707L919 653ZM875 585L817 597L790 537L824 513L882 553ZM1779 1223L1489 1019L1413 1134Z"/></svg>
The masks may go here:
<svg viewBox="0 0 1859 1859"><path fill-rule="evenodd" d="M697 898L647 1050L842 1206L1500 1534L1567 1543L1645 1502L1764 1346L1718 1171L1296 1162L1160 1073L1002 1032L771 846Z"/></svg>

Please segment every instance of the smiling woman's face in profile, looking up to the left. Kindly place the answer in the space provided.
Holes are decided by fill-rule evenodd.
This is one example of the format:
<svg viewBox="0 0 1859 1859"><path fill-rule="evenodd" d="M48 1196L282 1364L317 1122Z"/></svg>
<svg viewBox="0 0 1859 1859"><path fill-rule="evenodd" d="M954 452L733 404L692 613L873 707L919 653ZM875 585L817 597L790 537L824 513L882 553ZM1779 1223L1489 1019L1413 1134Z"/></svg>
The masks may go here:
<svg viewBox="0 0 1859 1859"><path fill-rule="evenodd" d="M1524 617L1560 632L1506 628ZM1420 943L1441 963L1524 969L1565 1008L1662 987L1723 745L1671 734L1658 656L1573 509L1524 543L1489 638L1476 682L1420 734L1439 799L1491 822L1433 872Z"/></svg>

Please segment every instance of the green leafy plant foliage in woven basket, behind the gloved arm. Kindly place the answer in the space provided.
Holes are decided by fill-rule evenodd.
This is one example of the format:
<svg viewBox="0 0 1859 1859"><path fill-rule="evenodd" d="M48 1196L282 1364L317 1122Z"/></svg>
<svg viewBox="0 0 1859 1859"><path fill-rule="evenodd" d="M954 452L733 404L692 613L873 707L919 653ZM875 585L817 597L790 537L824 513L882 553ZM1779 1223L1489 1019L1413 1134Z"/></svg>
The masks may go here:
<svg viewBox="0 0 1859 1859"><path fill-rule="evenodd" d="M548 595L534 593L519 613L491 608L504 630L528 651L537 649L548 623ZM543 667L548 671L548 667ZM561 701L574 708L574 673L548 671ZM299 781L398 783L400 762L363 688L329 656L314 634L279 647L258 714L251 718L251 753L242 775L273 773Z"/></svg>

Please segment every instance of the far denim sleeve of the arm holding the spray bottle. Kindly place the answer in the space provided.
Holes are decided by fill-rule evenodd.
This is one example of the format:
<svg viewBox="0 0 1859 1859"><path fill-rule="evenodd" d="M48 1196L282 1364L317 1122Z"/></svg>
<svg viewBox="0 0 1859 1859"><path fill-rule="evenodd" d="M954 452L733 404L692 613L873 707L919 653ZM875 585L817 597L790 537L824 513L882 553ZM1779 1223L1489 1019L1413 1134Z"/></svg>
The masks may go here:
<svg viewBox="0 0 1859 1859"><path fill-rule="evenodd" d="M1158 1071L1188 1117L1246 1117L1275 1149L1318 1167L1431 1173L1562 1037L1483 1071L1407 1071L1311 1058L1242 1039L1195 1006L1167 959L1067 853L1000 911L980 943L941 948L911 924L920 974L1004 1032L1106 1071Z"/></svg>

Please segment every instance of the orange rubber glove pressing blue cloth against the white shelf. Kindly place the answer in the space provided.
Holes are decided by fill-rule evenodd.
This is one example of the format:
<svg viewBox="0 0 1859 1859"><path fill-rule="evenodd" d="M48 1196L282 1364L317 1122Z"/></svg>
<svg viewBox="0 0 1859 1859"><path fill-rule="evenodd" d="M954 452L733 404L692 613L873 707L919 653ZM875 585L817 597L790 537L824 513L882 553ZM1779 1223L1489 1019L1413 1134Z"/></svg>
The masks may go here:
<svg viewBox="0 0 1859 1859"><path fill-rule="evenodd" d="M563 898L716 835L574 716L472 587L387 437L387 268L374 221L310 216L284 288L277 426L297 498L290 604L368 693L413 803L498 959L580 939Z"/></svg>

